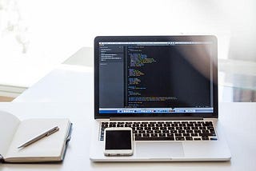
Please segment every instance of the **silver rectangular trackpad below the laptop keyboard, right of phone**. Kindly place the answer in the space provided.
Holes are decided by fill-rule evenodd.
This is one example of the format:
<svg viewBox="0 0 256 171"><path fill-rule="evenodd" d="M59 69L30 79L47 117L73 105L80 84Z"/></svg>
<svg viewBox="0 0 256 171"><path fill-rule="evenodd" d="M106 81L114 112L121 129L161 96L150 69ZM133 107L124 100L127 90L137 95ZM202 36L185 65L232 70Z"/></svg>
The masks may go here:
<svg viewBox="0 0 256 171"><path fill-rule="evenodd" d="M137 142L137 157L183 157L182 142Z"/></svg>

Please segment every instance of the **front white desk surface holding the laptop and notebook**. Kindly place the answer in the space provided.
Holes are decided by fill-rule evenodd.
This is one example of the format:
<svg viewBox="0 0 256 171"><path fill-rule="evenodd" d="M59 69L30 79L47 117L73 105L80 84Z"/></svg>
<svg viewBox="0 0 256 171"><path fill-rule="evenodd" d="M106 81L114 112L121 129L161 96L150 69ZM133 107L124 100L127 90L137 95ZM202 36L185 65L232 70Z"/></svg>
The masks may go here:
<svg viewBox="0 0 256 171"><path fill-rule="evenodd" d="M130 162L94 163L89 159L91 102L12 102L0 103L0 109L13 113L21 120L30 117L70 117L74 123L72 139L62 164L0 165L6 170L255 170L256 129L255 103L221 103L219 120L222 121L232 153L225 162ZM248 124L245 124L248 122Z"/></svg>

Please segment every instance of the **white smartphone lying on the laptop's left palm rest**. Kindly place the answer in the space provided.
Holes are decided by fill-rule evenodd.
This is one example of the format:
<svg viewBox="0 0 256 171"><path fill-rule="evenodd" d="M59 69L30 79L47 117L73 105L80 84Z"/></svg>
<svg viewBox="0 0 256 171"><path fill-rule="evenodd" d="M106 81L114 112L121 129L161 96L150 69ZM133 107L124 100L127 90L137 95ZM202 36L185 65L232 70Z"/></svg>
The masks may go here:
<svg viewBox="0 0 256 171"><path fill-rule="evenodd" d="M104 130L105 156L131 156L134 153L133 129L126 127Z"/></svg>

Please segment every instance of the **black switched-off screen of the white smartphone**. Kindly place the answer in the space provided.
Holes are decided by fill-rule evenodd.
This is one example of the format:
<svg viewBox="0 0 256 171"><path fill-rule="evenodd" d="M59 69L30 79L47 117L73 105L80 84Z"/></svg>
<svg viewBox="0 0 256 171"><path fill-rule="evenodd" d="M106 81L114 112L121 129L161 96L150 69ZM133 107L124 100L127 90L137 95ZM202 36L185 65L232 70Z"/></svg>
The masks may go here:
<svg viewBox="0 0 256 171"><path fill-rule="evenodd" d="M106 130L105 149L132 149L130 130Z"/></svg>

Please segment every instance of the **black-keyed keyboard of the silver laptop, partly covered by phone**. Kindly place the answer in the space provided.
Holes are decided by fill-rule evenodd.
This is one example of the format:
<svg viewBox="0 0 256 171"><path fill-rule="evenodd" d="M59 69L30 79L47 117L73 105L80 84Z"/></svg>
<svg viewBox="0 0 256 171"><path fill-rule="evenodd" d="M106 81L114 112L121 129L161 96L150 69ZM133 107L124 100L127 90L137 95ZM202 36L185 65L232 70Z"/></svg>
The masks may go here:
<svg viewBox="0 0 256 171"><path fill-rule="evenodd" d="M130 127L134 141L216 141L212 121L102 121L100 141L104 129Z"/></svg>

